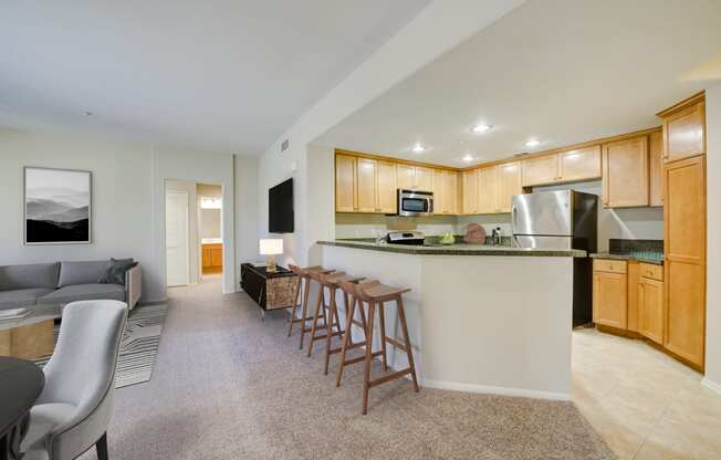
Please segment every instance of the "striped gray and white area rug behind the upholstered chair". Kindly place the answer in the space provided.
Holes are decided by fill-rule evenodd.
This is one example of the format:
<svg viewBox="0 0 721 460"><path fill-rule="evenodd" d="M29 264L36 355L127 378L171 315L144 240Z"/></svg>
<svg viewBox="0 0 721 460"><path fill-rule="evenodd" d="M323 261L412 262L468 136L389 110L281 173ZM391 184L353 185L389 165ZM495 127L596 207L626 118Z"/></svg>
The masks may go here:
<svg viewBox="0 0 721 460"><path fill-rule="evenodd" d="M115 388L148 381L153 376L167 309L167 304L146 305L130 312L121 342ZM60 324L55 324L55 341L59 333ZM49 359L50 356L45 356L35 364L43 367Z"/></svg>

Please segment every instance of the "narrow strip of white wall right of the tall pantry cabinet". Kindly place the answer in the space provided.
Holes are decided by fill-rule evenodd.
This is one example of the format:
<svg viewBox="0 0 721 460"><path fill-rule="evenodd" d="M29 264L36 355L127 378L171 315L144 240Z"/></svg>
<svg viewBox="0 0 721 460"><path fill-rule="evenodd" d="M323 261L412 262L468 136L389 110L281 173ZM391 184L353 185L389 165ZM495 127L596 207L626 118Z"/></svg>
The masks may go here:
<svg viewBox="0 0 721 460"><path fill-rule="evenodd" d="M706 92L707 318L706 383L721 393L721 84Z"/></svg>

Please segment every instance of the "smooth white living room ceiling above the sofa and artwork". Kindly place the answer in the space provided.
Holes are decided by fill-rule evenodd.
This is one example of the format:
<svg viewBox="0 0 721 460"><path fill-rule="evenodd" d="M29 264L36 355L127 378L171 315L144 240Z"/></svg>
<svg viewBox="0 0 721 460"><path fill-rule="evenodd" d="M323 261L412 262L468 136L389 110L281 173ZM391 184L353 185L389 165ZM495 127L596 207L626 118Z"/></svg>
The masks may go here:
<svg viewBox="0 0 721 460"><path fill-rule="evenodd" d="M428 3L3 1L0 126L261 154Z"/></svg>

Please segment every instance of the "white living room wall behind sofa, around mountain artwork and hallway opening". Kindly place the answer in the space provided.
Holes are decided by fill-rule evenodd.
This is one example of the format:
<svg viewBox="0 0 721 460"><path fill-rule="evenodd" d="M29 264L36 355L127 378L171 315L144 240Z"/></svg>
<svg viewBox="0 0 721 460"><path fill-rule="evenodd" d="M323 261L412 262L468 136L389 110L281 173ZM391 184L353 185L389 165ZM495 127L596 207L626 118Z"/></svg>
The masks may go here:
<svg viewBox="0 0 721 460"><path fill-rule="evenodd" d="M0 264L133 257L143 265L143 302L166 299L166 179L220 184L223 187L223 291L236 283L238 238L243 254L257 245L249 223L234 234L233 155L179 150L96 136L44 134L0 128ZM254 160L240 168L243 201L239 210L254 219ZM25 247L22 243L23 166L93 171L93 243ZM253 221L252 227L255 227Z"/></svg>

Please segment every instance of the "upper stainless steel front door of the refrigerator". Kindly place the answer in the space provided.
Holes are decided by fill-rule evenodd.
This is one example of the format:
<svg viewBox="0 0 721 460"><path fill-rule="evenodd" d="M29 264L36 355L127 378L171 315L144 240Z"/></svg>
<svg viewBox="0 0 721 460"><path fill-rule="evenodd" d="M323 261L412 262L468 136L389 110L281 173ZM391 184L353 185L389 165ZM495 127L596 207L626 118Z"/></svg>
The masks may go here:
<svg viewBox="0 0 721 460"><path fill-rule="evenodd" d="M571 237L571 191L516 195L511 209L514 236Z"/></svg>

